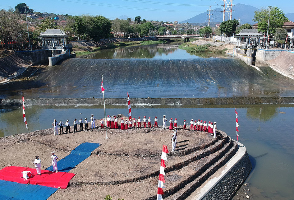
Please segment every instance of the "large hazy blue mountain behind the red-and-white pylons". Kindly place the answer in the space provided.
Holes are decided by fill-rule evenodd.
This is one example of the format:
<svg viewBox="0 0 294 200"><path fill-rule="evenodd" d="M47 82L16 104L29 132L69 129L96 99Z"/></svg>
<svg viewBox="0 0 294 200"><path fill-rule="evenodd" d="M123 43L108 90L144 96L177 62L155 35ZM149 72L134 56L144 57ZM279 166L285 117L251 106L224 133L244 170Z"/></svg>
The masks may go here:
<svg viewBox="0 0 294 200"><path fill-rule="evenodd" d="M210 14L213 14L211 18L213 19L213 22L222 22L223 21L223 13L221 12L222 8L215 8ZM252 21L252 18L254 17L254 11L259 10L256 7L245 5L242 3L237 3L235 6L233 6L233 12L232 12L232 18L233 19L239 19L241 20L241 24L249 23L254 24L255 22ZM204 23L208 22L207 16L208 12L203 12L199 15L196 15L190 19L184 20L181 23ZM294 14L294 13L289 13ZM225 20L228 19L228 13L225 14Z"/></svg>

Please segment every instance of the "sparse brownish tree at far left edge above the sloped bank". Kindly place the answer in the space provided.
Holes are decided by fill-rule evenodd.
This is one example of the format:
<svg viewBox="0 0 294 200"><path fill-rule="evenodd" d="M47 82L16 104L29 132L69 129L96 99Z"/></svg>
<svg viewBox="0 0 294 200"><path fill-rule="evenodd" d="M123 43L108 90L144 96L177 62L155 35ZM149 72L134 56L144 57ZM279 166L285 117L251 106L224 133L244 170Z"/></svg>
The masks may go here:
<svg viewBox="0 0 294 200"><path fill-rule="evenodd" d="M20 16L12 13L12 10L0 11L0 40L4 41L5 50L10 41L25 38L25 26L19 23Z"/></svg>

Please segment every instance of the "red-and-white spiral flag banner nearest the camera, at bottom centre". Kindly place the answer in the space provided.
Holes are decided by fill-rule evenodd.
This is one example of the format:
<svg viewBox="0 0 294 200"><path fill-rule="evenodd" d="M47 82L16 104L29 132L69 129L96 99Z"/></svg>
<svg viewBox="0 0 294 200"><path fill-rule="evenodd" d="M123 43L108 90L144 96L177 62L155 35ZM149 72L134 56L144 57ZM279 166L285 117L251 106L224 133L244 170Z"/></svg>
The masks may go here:
<svg viewBox="0 0 294 200"><path fill-rule="evenodd" d="M165 163L164 160L168 160L168 158L166 157L166 154L168 153L168 147L165 145L162 145L162 152L161 152L161 163L160 163L160 171L159 171L159 179L158 179L158 189L157 189L157 198L156 200L161 200L162 195L164 194L163 189L163 183L165 183L164 180L164 168L165 168Z"/></svg>

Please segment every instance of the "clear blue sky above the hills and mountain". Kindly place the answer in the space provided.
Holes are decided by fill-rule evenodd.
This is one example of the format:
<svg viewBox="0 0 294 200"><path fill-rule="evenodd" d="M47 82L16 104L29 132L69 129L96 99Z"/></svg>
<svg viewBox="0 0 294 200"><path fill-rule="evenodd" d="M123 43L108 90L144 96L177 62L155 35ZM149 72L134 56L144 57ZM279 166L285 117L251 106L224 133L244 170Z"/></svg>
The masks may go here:
<svg viewBox="0 0 294 200"><path fill-rule="evenodd" d="M121 15L132 18L141 16L141 19L158 21L183 21L207 11L209 6L214 9L223 5L221 0L10 0L1 1L0 8L8 9L9 6L15 7L23 2L38 12L103 15L111 20ZM284 13L294 12L293 0L282 2L278 4L276 0L233 0L233 4L244 3L257 8L278 6Z"/></svg>

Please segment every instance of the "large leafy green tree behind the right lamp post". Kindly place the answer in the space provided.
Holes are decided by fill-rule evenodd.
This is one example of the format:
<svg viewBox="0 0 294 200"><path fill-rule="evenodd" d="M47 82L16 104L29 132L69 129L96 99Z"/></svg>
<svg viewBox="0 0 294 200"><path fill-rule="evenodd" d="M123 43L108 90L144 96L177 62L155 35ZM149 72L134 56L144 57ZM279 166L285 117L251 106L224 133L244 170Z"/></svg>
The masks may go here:
<svg viewBox="0 0 294 200"><path fill-rule="evenodd" d="M255 15L254 15L253 21L258 22L257 30L264 34L267 33L268 20L269 20L269 34L273 34L277 28L282 28L282 26L284 25L284 22L288 21L288 18L285 17L284 12L276 6L270 9L270 15L269 15L269 9L265 9L265 8L262 8L260 11L255 11L254 13Z"/></svg>

